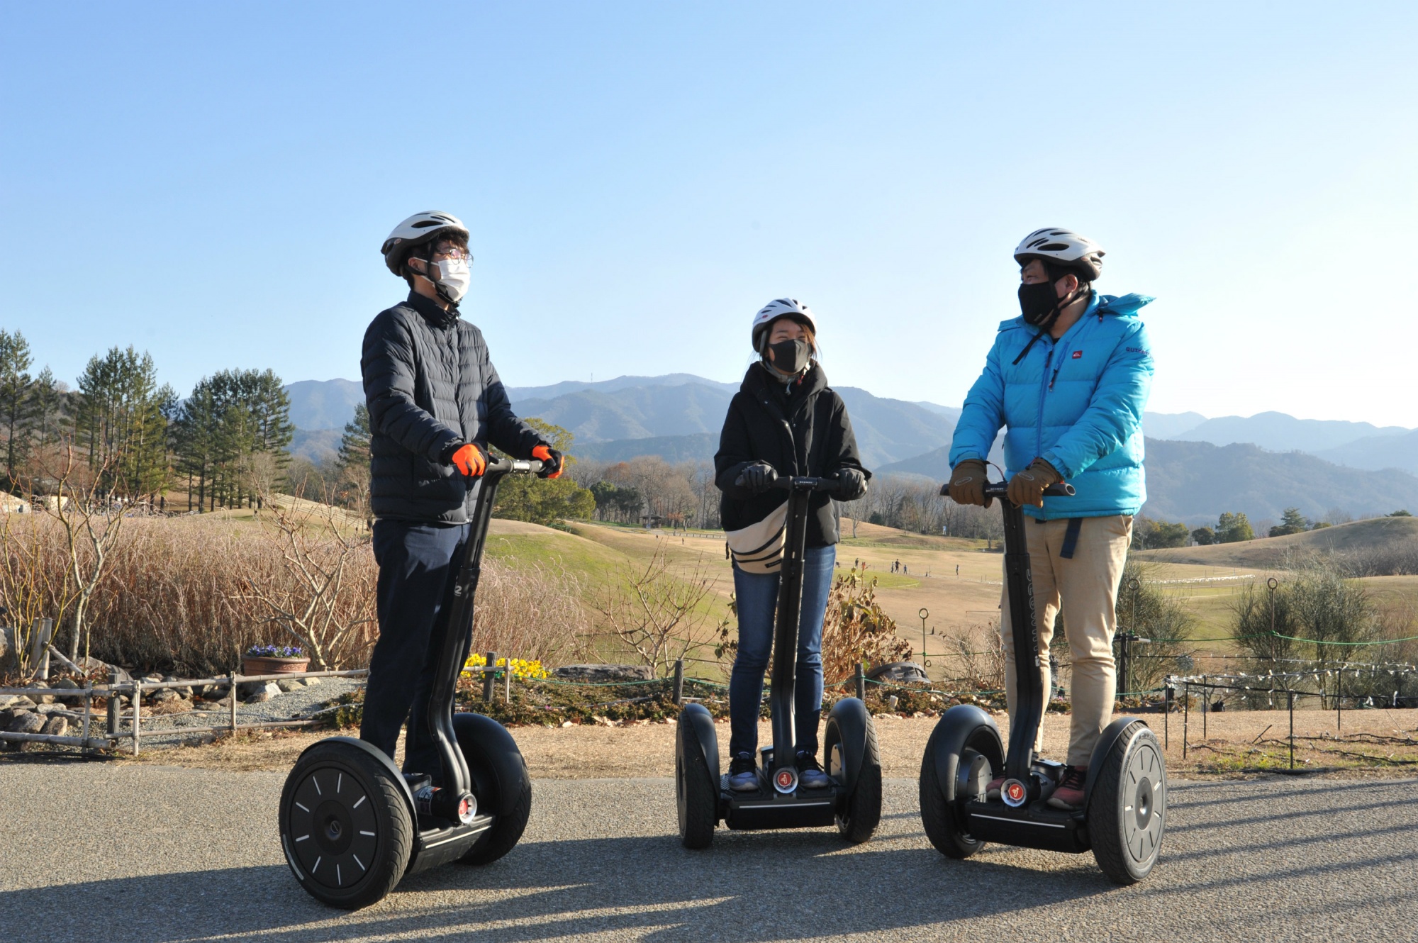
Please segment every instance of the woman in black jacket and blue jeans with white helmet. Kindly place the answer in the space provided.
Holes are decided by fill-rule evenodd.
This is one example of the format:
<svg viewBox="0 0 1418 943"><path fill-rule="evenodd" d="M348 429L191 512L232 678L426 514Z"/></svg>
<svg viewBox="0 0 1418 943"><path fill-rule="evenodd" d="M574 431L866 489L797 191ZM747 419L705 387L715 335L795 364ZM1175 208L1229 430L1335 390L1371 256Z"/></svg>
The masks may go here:
<svg viewBox="0 0 1418 943"><path fill-rule="evenodd" d="M739 654L729 679L729 786L759 788L754 752L763 672L773 648L773 617L783 560L787 492L773 488L778 475L837 478L839 501L866 493L871 472L862 468L842 397L827 386L814 359L813 312L791 298L770 302L753 318L759 355L729 403L715 455L715 484L723 492L720 515L733 550L733 588L739 613ZM810 496L807 550L803 559L803 610L798 623L794 703L798 781L821 788L828 777L817 761L817 726L822 712L822 617L837 560L837 520L831 498Z"/></svg>

